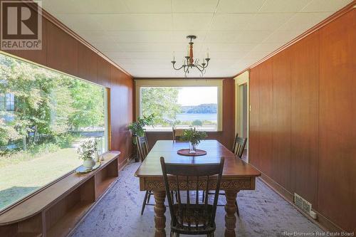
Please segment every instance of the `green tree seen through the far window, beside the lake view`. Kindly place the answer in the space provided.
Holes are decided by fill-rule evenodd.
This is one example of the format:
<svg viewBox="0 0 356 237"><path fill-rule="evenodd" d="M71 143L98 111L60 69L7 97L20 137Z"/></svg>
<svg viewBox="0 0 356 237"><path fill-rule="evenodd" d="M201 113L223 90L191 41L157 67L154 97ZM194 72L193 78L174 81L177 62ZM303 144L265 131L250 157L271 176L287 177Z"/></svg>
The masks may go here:
<svg viewBox="0 0 356 237"><path fill-rule="evenodd" d="M169 125L180 112L179 88L142 88L142 115L154 114L153 125Z"/></svg>

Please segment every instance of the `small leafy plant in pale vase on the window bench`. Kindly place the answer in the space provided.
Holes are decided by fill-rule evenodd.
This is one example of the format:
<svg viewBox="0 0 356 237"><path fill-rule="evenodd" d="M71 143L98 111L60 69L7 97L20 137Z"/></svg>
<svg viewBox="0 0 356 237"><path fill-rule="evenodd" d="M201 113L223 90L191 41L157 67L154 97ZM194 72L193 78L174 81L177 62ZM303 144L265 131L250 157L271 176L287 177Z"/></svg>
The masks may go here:
<svg viewBox="0 0 356 237"><path fill-rule="evenodd" d="M95 139L88 139L80 143L76 152L79 155L79 159L83 159L83 167L93 169L95 166L95 160L93 159L93 156L97 150L98 141Z"/></svg>

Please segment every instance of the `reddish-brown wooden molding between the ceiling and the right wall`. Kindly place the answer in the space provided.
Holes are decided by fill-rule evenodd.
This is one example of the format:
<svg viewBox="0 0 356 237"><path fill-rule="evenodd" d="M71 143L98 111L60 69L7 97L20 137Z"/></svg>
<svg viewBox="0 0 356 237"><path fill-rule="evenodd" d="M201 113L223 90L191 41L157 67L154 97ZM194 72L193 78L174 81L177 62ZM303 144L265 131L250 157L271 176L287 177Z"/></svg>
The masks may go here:
<svg viewBox="0 0 356 237"><path fill-rule="evenodd" d="M323 26L327 25L331 21L335 21L340 16L346 14L349 11L352 11L352 9L355 9L355 7L356 7L355 4L356 4L356 0L350 2L350 4L347 4L345 7L343 7L339 11L336 11L335 14L329 16L327 19L325 19L325 20L321 21L320 23L316 24L315 26L310 28L308 31L305 31L304 33L302 33L300 36L297 36L296 38L293 38L293 40L291 40L288 43L286 43L285 45L281 46L281 48L277 48L276 51L273 51L272 53L268 54L268 56L262 58L261 60L258 60L256 63L253 63L252 65L248 66L244 70L241 70L241 72L237 73L234 76L234 78L236 78L237 76L239 76L242 73L246 72L246 70L250 70L251 68L256 67L256 65L263 63L264 61L268 60L268 58L271 58L271 57L275 56L277 53L280 53L281 51L285 50L286 48L288 48L289 46L293 45L294 43L297 43L298 41L302 40L306 36L309 36L310 33L318 31L320 28L322 28Z"/></svg>

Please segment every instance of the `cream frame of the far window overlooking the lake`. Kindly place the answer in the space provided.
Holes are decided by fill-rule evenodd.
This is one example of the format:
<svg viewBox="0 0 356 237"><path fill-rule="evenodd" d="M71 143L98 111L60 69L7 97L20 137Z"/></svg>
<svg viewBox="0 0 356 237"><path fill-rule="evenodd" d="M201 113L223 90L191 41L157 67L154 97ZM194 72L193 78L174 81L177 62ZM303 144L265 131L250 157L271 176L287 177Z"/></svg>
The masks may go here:
<svg viewBox="0 0 356 237"><path fill-rule="evenodd" d="M217 127L216 131L222 132L223 128L223 79L137 79L135 80L135 115L141 116L141 88L145 87L217 87ZM150 132L162 132L160 130L150 130Z"/></svg>

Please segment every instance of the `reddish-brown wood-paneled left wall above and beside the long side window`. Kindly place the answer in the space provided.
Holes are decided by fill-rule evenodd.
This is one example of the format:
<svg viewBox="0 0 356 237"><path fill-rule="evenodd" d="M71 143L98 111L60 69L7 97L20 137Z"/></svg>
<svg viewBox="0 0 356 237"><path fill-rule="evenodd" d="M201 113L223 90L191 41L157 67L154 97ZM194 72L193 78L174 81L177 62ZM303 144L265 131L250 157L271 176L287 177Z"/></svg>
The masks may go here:
<svg viewBox="0 0 356 237"><path fill-rule="evenodd" d="M121 152L119 163L122 166L132 153L132 139L127 130L127 125L132 122L133 115L132 77L123 73L51 21L44 17L42 21L43 47L41 51L6 51L6 53L109 88L111 149Z"/></svg>

